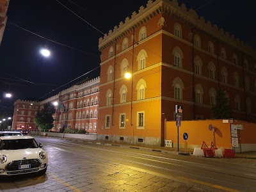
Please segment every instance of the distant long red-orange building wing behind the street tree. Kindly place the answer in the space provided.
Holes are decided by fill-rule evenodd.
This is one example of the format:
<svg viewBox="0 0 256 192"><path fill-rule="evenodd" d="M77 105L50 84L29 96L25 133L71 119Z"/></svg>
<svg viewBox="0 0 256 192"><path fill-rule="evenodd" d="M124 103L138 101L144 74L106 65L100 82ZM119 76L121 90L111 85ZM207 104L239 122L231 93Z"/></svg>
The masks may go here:
<svg viewBox="0 0 256 192"><path fill-rule="evenodd" d="M14 104L12 129L38 129L33 123L33 117L38 109L42 109L46 103L56 103L52 131L59 132L65 128L72 128L96 133L99 82L100 78L96 77L84 83L71 86L57 95L40 102L17 100Z"/></svg>

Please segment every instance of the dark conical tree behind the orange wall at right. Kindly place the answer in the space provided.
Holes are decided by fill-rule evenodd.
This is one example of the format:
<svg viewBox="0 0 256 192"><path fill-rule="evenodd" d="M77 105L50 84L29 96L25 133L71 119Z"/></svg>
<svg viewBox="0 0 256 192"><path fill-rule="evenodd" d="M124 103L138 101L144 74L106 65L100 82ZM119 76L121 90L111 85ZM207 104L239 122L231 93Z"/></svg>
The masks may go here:
<svg viewBox="0 0 256 192"><path fill-rule="evenodd" d="M212 107L214 118L231 118L233 113L232 109L228 105L228 98L225 93L221 90L218 90L216 95L216 104Z"/></svg>

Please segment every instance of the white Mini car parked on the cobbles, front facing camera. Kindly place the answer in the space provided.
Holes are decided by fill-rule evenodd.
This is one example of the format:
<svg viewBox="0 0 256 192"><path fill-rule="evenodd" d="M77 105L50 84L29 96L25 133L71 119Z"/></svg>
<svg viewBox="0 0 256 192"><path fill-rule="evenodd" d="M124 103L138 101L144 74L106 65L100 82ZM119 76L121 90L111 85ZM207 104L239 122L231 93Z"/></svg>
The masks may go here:
<svg viewBox="0 0 256 192"><path fill-rule="evenodd" d="M42 143L31 136L0 137L0 176L38 173L44 175L48 157Z"/></svg>

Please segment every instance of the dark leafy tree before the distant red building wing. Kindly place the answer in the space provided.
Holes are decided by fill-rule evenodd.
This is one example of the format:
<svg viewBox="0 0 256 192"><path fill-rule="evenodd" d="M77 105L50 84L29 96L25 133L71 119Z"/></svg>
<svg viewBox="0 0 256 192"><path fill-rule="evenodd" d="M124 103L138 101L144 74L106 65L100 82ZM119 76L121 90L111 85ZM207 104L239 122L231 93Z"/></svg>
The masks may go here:
<svg viewBox="0 0 256 192"><path fill-rule="evenodd" d="M47 103L44 104L44 108L40 111L38 110L35 118L34 123L38 125L39 129L43 131L44 129L52 129L53 121L52 115L55 113L55 108L52 104Z"/></svg>

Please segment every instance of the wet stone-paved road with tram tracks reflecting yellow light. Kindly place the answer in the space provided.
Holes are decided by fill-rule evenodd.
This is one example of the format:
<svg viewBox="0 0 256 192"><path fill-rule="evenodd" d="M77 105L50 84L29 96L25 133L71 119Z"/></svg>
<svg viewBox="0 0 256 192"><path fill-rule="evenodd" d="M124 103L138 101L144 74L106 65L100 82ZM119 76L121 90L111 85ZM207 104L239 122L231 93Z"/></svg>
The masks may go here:
<svg viewBox="0 0 256 192"><path fill-rule="evenodd" d="M1 191L256 191L256 162L243 159L180 156L58 138L36 141L49 156L46 174L1 178Z"/></svg>

